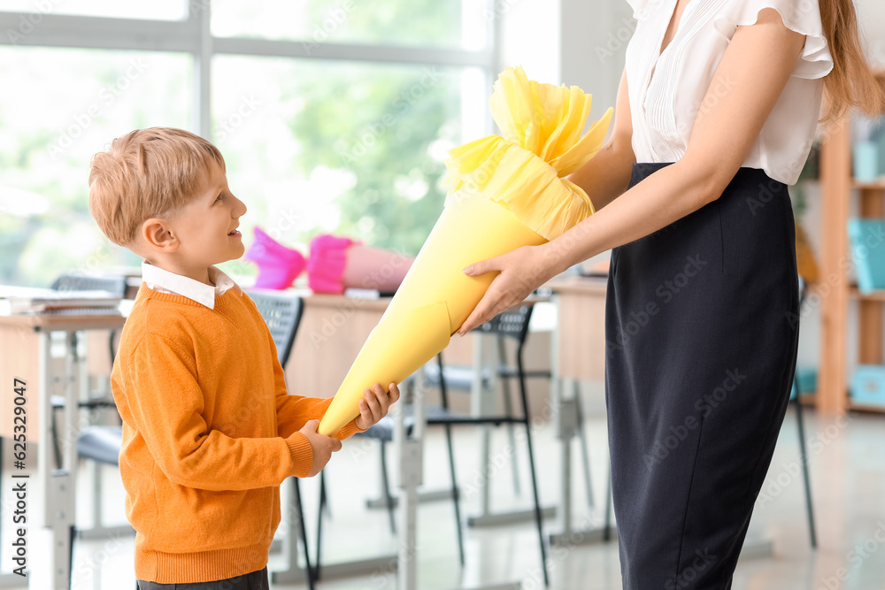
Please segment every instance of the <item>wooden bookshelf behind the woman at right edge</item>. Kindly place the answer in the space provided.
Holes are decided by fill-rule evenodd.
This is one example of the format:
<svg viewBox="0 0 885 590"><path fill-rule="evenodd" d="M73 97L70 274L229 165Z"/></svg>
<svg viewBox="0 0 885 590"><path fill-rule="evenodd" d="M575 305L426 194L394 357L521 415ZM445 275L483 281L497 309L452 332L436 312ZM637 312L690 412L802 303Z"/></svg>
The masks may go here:
<svg viewBox="0 0 885 590"><path fill-rule="evenodd" d="M879 73L885 84L885 72ZM851 172L850 115L835 123L820 146L821 252L820 280L814 288L820 297L820 363L815 403L821 414L847 410L885 411L852 404L847 383L848 310L858 305L858 364L882 364L882 324L885 291L862 295L850 284L851 263L848 218L851 199L857 198L858 215L885 217L885 180L861 182ZM846 264L848 263L848 264Z"/></svg>

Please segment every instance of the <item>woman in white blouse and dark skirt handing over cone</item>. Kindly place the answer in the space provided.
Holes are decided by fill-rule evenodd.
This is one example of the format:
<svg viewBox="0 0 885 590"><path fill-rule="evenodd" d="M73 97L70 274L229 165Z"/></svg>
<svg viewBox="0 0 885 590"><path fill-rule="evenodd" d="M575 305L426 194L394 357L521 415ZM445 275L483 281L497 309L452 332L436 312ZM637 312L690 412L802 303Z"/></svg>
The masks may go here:
<svg viewBox="0 0 885 590"><path fill-rule="evenodd" d="M596 213L500 272L466 333L612 249L605 386L624 588L729 588L796 366L795 184L827 118L885 92L851 0L628 0Z"/></svg>

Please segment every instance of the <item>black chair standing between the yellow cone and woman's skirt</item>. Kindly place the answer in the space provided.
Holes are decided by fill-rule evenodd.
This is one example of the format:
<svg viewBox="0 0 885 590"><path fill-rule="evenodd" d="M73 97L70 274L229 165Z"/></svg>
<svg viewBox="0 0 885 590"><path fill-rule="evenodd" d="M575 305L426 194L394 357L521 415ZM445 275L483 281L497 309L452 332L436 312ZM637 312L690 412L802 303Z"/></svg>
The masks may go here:
<svg viewBox="0 0 885 590"><path fill-rule="evenodd" d="M532 434L528 412L526 379L527 377L538 376L549 378L550 372L527 372L523 366L523 348L527 339L528 324L531 319L533 309L534 305L526 303L520 305L518 308L504 311L503 313L498 314L495 318L489 320L489 322L475 328L475 331L496 334L499 336L499 339L501 341L499 354L501 355L502 359L505 356L504 339L510 338L517 341L516 366L511 367L510 365L506 364L504 360L502 360L501 365L498 366L496 369L496 373L500 378L504 379L504 383L508 384L504 386L505 398L509 398L511 393L508 379L518 379L519 401L521 405L519 415L514 415L514 412L512 411L512 401L510 399L504 400L504 414L502 415L475 417L457 414L451 411L449 407L450 386L452 385L452 383L454 383L454 385L458 386L461 389L469 390L469 384L473 382L473 369L469 367L463 369L460 367L446 367L443 364L442 354L440 354L436 357L435 370L433 365L427 364L425 368L425 374L427 377L427 385L438 385L440 387L442 404L439 407L428 407L426 411L426 420L427 425L441 425L445 428L446 445L449 450L449 471L452 487L452 501L454 504L455 519L458 531L458 556L462 565L464 565L465 563L464 532L461 522L460 506L458 503L458 480L455 470L455 458L451 441L451 427L453 425L491 424L508 425L510 427L512 427L512 425L522 425L526 428L528 463L531 472L532 493L535 504L535 525L537 527L539 546L541 548L541 563L544 573L544 585L547 586L549 585L549 576L547 571L546 546L544 544L543 538L541 504L538 498L537 478L535 474L535 460L534 451L532 448ZM483 372L481 374L481 379L483 379L484 385L488 386L489 377L489 372ZM410 431L412 428L412 422L413 420L411 417L406 417L406 428ZM358 433L358 435L360 436L372 438L380 442L381 481L383 492L387 496L387 506L390 514L391 530L395 530L395 519L393 514L393 499L389 494L389 476L387 472L387 461L384 448L387 442L393 440L393 429L393 419L390 417L386 417L383 418L378 424L373 425L371 428L366 430L365 433ZM512 439L512 441L515 441L515 438Z"/></svg>

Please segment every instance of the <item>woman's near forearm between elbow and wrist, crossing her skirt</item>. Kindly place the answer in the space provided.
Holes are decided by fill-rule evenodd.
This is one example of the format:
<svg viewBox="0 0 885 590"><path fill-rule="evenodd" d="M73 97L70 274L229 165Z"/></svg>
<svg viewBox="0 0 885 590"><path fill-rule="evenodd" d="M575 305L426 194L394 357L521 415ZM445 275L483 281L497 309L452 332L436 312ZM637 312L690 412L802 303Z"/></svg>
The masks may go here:
<svg viewBox="0 0 885 590"><path fill-rule="evenodd" d="M721 191L717 194L713 181L692 168L680 161L654 172L604 209L541 246L550 271L554 275L565 272L600 252L656 232L719 197Z"/></svg>

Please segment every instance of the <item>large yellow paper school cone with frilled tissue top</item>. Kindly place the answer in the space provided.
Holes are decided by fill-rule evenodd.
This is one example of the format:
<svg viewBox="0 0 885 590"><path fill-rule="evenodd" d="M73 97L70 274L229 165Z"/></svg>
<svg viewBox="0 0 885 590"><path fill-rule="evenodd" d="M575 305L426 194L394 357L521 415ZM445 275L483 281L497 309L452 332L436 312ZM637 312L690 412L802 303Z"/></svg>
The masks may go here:
<svg viewBox="0 0 885 590"><path fill-rule="evenodd" d="M602 147L612 108L581 137L592 96L539 84L521 67L498 75L489 99L503 137L450 149L443 214L360 349L318 432L331 435L359 415L374 383L401 383L449 344L496 274L462 269L520 246L553 240L591 215L593 203L565 177Z"/></svg>

